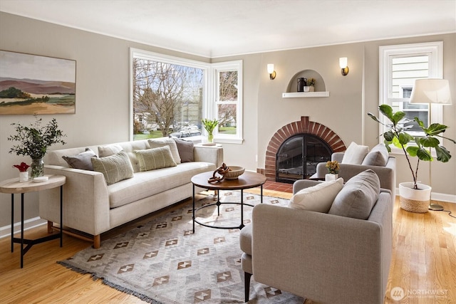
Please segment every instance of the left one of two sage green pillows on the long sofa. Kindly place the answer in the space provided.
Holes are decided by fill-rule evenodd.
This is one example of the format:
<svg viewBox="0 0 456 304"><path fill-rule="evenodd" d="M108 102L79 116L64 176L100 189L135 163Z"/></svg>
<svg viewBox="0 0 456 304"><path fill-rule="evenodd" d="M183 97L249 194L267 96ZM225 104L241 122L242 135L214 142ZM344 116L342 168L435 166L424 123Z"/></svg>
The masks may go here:
<svg viewBox="0 0 456 304"><path fill-rule="evenodd" d="M133 167L127 153L120 151L107 157L91 158L93 170L103 173L106 184L115 184L133 177Z"/></svg>

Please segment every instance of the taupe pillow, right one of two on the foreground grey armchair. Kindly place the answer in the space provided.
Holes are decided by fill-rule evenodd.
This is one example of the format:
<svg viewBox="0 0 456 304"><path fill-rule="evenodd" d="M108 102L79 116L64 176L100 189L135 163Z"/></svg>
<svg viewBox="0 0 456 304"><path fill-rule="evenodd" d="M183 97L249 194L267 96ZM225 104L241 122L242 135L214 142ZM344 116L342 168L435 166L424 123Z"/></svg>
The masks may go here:
<svg viewBox="0 0 456 304"><path fill-rule="evenodd" d="M371 169L348 179L328 214L368 219L380 194L380 179Z"/></svg>

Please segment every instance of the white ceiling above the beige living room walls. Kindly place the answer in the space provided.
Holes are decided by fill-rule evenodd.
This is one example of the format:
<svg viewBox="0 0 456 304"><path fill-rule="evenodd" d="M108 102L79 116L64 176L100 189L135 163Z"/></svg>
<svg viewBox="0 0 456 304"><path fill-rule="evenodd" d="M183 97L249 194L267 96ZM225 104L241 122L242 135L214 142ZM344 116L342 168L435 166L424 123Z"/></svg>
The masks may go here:
<svg viewBox="0 0 456 304"><path fill-rule="evenodd" d="M0 11L209 58L456 32L456 0L0 0Z"/></svg>

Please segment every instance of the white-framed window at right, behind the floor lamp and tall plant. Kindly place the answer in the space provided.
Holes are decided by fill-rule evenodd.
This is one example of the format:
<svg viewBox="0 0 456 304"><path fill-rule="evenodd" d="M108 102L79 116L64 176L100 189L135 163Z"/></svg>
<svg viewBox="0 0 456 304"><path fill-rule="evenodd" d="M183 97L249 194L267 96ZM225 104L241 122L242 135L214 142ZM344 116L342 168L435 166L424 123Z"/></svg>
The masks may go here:
<svg viewBox="0 0 456 304"><path fill-rule="evenodd" d="M416 79L442 78L442 49L441 41L380 46L380 105L387 104L394 111L401 110L410 120L419 117L425 125L430 121L442 123L442 105L409 103ZM429 117L430 113L432 117ZM380 119L386 122L385 117ZM415 122L410 124L413 125L410 134L419 135L418 125ZM380 125L380 133L385 131L385 127Z"/></svg>

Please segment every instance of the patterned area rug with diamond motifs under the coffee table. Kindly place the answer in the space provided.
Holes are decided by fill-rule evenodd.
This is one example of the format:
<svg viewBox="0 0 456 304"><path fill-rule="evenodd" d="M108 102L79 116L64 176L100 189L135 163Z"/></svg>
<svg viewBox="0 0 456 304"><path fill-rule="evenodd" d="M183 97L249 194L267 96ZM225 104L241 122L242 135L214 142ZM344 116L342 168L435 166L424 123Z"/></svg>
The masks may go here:
<svg viewBox="0 0 456 304"><path fill-rule="evenodd" d="M220 201L240 201L240 192L220 192ZM244 203L259 201L259 195L244 192ZM206 196L196 207L214 202L213 196ZM288 200L264 196L263 203L285 206ZM197 220L214 226L240 225L238 204L222 204L219 209L219 216L217 206L199 209ZM244 224L250 219L252 207L244 206ZM58 263L150 303L244 303L241 254L239 229L195 224L192 234L190 204ZM304 303L304 299L252 278L249 303Z"/></svg>

